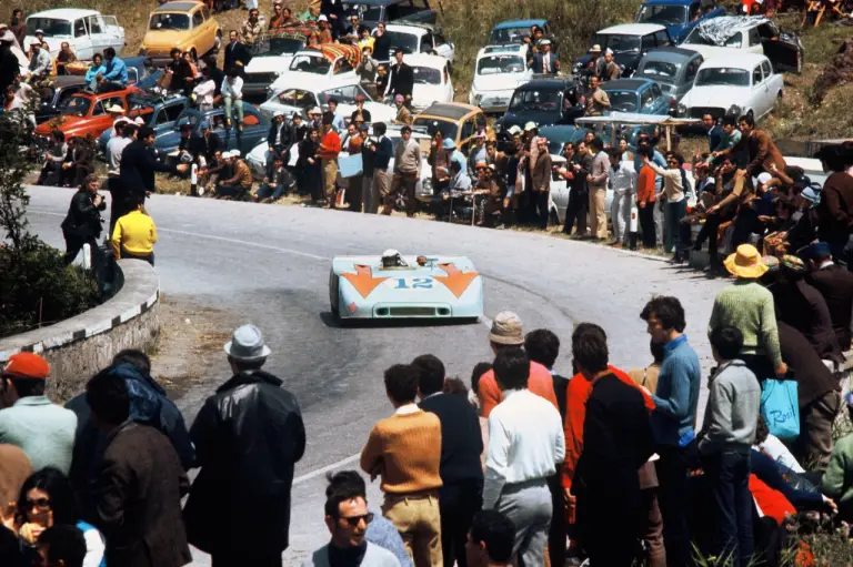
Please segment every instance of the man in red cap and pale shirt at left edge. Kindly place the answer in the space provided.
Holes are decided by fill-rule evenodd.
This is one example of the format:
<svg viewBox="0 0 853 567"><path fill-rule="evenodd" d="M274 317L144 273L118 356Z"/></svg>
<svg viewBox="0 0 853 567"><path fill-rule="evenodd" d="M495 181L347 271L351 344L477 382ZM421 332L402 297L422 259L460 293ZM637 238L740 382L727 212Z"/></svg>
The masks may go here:
<svg viewBox="0 0 853 567"><path fill-rule="evenodd" d="M0 368L0 444L20 447L33 470L68 474L77 416L44 395L49 375L48 362L33 353L16 353Z"/></svg>

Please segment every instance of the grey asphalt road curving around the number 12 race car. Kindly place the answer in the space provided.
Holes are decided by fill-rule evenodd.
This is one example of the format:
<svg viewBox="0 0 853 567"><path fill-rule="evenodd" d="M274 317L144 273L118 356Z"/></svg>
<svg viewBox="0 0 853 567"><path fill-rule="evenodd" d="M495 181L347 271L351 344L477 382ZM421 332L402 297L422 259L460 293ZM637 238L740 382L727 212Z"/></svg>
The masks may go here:
<svg viewBox="0 0 853 567"><path fill-rule="evenodd" d="M57 246L63 245L59 225L71 195L68 189L31 189L31 227ZM323 473L357 468L354 456L372 425L391 413L384 368L433 353L450 375L468 383L474 364L491 360L489 321L337 326L328 293L335 255L379 254L389 247L404 254L468 255L485 279L486 317L511 308L525 331L555 332L564 344L558 362L563 374L571 369L572 328L583 321L604 327L613 364L649 364L640 311L652 295L676 295L705 374L712 365L706 324L724 283L665 262L536 233L297 206L155 195L148 210L160 235L155 254L163 294L189 295L199 305L258 325L273 352L267 369L282 377L302 405L309 441L297 467L288 564L301 563L327 540ZM179 401L188 422L227 377L224 355L217 369L218 376ZM381 503L375 486L370 500L373 507ZM197 563L209 560L198 554Z"/></svg>

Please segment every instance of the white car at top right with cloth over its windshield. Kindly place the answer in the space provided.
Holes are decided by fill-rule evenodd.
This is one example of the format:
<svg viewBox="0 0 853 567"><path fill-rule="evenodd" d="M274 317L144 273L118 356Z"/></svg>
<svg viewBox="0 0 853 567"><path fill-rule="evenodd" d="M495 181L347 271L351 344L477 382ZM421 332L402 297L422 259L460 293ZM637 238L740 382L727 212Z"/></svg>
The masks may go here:
<svg viewBox="0 0 853 567"><path fill-rule="evenodd" d="M781 31L763 16L725 16L696 26L682 48L699 51L709 60L737 53L766 55L776 71L803 70L805 51L800 37Z"/></svg>

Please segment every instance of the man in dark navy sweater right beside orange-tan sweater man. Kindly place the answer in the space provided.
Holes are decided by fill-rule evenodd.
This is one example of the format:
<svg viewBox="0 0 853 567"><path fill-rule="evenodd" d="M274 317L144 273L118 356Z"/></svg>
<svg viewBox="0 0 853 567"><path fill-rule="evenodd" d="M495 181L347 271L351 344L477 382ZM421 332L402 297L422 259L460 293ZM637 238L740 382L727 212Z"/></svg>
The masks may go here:
<svg viewBox="0 0 853 567"><path fill-rule="evenodd" d="M483 504L483 439L480 421L468 399L443 393L444 365L431 354L412 361L419 371L420 408L441 422L439 512L444 565L465 567L465 538Z"/></svg>

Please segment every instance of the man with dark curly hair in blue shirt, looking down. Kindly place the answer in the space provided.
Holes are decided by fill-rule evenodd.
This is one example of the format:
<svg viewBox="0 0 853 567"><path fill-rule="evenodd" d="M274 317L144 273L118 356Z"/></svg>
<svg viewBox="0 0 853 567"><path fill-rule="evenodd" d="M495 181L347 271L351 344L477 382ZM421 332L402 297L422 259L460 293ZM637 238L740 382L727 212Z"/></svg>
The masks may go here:
<svg viewBox="0 0 853 567"><path fill-rule="evenodd" d="M640 318L655 343L664 344L663 364L658 377L652 429L656 444L660 504L663 516L663 543L666 564L690 565L691 537L688 470L696 456L696 405L701 372L699 356L684 334L684 308L676 297L659 296L643 307Z"/></svg>

